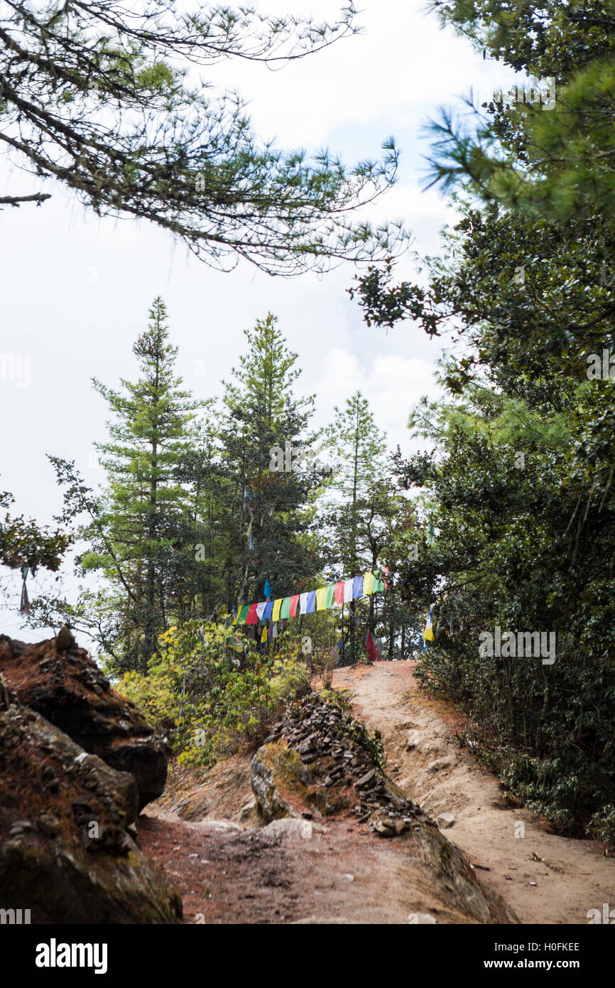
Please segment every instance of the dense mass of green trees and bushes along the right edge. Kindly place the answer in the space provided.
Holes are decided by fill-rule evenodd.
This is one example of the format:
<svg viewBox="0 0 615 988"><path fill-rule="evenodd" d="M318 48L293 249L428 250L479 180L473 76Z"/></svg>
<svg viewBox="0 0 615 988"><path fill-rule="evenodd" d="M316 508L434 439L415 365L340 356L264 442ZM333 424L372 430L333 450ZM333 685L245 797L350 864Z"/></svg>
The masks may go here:
<svg viewBox="0 0 615 988"><path fill-rule="evenodd" d="M460 221L421 285L393 285L389 265L353 288L372 325L456 327L440 373L453 400L423 401L411 426L431 450L397 463L436 533L400 568L407 606L438 600L453 623L419 676L467 710L476 750L528 805L612 843L613 383L587 369L615 350L615 8L433 6L479 50L554 79L556 101L491 103L465 130L443 113L431 177ZM482 657L495 625L555 632L555 663Z"/></svg>

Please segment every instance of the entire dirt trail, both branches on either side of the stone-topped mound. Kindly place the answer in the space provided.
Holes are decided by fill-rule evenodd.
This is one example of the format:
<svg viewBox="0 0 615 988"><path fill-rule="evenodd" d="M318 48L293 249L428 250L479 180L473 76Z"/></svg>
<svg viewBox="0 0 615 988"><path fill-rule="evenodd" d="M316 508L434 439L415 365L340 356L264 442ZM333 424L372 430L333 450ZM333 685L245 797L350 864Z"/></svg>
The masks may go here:
<svg viewBox="0 0 615 988"><path fill-rule="evenodd" d="M459 747L461 715L421 692L413 668L377 663L335 675L355 714L380 730L389 775L431 817L454 815L446 837L521 923L586 924L587 910L615 905L615 860L510 809L499 782ZM176 772L139 817L139 843L177 884L185 922L476 922L451 907L404 836L382 840L350 818L260 825L250 777L248 756L220 763L201 784Z"/></svg>

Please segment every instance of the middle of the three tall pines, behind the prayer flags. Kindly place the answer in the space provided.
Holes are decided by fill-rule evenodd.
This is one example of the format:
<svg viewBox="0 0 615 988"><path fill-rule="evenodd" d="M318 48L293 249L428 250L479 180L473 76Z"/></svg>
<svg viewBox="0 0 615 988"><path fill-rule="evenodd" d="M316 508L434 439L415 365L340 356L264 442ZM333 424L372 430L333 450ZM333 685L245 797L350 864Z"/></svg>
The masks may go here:
<svg viewBox="0 0 615 988"><path fill-rule="evenodd" d="M302 462L316 436L308 432L314 396L297 398L300 371L270 313L245 333L246 353L225 382L218 528L224 544L226 604L296 592L320 569L311 535L323 478ZM281 453L281 458L280 458Z"/></svg>

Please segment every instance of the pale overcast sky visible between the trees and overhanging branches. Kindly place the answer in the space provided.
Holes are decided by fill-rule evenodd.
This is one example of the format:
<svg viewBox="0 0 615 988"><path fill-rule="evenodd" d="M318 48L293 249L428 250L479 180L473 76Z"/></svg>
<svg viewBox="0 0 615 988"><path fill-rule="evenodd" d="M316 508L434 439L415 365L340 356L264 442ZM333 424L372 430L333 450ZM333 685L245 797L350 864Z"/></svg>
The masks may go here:
<svg viewBox="0 0 615 988"><path fill-rule="evenodd" d="M331 0L264 0L258 6L269 13L312 11L329 20L337 11ZM393 134L403 151L399 182L370 217L404 217L415 246L432 253L440 228L453 217L438 193L421 191L428 152L423 124L438 106L457 104L471 88L493 92L500 66L441 31L424 13L424 0L363 0L360 6L361 36L282 71L233 62L215 67L210 77L242 92L256 131L278 146L328 146L350 163L377 157L382 140ZM33 188L28 175L0 159L1 194ZM134 377L132 342L158 294L180 348L178 371L198 396L219 392L220 379L237 363L243 330L271 311L299 354L298 390L318 394L318 424L359 388L390 445L409 452L408 415L423 393L434 392L431 373L440 344L409 323L388 334L367 329L346 294L350 266L292 280L270 278L247 263L216 273L152 225L100 220L57 185L43 188L52 199L42 206L1 213L0 354L31 362L28 386L0 380L0 490L14 493L17 513L45 524L61 506L45 453L76 459L90 483L100 481L92 444L105 439L107 409L90 379L96 375L115 386L120 376ZM398 277L410 278L413 271L406 258ZM197 376L203 358L207 375ZM38 586L30 581L31 597ZM37 630L20 630L17 584L10 603L12 610L0 611L0 632L39 638Z"/></svg>

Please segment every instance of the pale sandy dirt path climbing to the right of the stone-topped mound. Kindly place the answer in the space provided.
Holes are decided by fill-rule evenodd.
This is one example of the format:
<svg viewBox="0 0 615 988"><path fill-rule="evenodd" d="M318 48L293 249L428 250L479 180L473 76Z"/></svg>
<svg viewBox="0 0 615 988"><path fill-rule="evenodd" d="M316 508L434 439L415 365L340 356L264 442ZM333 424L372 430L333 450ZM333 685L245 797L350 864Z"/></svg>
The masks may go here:
<svg viewBox="0 0 615 988"><path fill-rule="evenodd" d="M430 816L454 814L446 836L482 866L482 881L521 923L586 924L587 910L615 906L615 859L595 842L548 833L529 810L510 809L500 783L459 747L460 715L425 696L413 669L383 662L335 676L334 685L354 695L355 714L381 731L392 778ZM407 750L409 736L416 747Z"/></svg>

